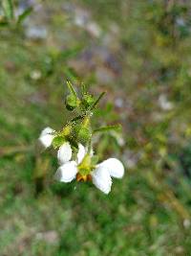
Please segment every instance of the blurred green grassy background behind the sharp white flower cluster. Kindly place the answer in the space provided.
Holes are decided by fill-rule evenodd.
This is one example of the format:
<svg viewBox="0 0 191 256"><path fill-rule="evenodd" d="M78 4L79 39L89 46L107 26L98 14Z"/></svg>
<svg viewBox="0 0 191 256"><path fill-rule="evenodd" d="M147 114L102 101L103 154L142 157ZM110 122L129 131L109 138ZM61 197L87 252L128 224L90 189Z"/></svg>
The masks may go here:
<svg viewBox="0 0 191 256"><path fill-rule="evenodd" d="M0 255L191 255L191 2L20 0L0 27ZM0 19L4 13L0 9ZM109 196L53 180L66 80L106 97L95 142L126 167Z"/></svg>

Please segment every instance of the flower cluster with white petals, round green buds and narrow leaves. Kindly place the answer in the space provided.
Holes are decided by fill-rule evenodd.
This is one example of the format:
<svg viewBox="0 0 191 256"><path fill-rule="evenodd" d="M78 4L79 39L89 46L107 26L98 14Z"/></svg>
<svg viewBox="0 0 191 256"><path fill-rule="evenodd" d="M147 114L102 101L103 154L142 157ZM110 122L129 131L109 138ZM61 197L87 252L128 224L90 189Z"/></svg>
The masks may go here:
<svg viewBox="0 0 191 256"><path fill-rule="evenodd" d="M92 181L96 188L105 194L111 191L112 177L121 178L124 175L124 167L117 158L109 158L97 163L97 156L92 148L92 137L96 131L106 131L117 127L104 127L95 130L91 127L91 117L94 109L102 97L97 99L86 92L83 86L81 99L74 91L73 85L68 82L70 94L65 105L68 110L74 108L80 110L80 114L74 117L61 130L56 132L53 128L44 128L40 134L39 142L44 148L53 145L57 149L59 168L54 177L61 182Z"/></svg>

